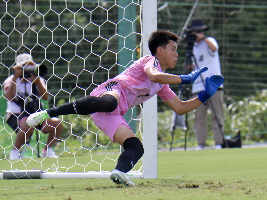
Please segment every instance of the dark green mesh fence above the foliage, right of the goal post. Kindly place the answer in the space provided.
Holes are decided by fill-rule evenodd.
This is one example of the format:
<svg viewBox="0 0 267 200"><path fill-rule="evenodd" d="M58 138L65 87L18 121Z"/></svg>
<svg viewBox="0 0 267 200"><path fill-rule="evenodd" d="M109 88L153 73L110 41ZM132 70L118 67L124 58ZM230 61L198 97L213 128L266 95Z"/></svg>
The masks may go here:
<svg viewBox="0 0 267 200"><path fill-rule="evenodd" d="M168 29L180 35L182 27L195 1L160 1L158 7L158 29ZM222 74L225 78L225 96L242 98L266 88L267 83L267 2L237 0L200 0L194 17L204 19L209 30L207 36L214 37L219 45ZM190 26L191 24L188 24ZM183 72L186 42L178 47L178 64L170 73ZM179 66L180 65L180 66ZM171 86L174 91L179 86Z"/></svg>

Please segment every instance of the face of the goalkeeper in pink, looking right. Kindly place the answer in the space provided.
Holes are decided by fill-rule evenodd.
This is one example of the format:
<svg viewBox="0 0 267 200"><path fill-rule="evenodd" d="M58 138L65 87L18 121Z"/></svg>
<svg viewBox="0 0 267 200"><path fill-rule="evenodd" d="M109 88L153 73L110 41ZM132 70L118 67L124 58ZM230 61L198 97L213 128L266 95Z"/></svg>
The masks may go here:
<svg viewBox="0 0 267 200"><path fill-rule="evenodd" d="M173 40L170 40L165 50L163 50L163 60L166 68L174 68L177 63L177 57L177 44Z"/></svg>

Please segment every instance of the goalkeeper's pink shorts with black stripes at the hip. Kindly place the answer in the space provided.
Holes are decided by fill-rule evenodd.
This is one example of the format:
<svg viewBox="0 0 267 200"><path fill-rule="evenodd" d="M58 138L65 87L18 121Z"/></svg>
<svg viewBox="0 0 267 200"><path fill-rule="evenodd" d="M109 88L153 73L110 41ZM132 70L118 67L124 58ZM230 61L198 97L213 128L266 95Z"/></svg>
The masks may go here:
<svg viewBox="0 0 267 200"><path fill-rule="evenodd" d="M127 112L128 105L127 98L124 92L122 92L121 86L118 83L114 84L113 81L110 82L109 80L95 88L91 92L90 96L101 96L103 92L111 90L119 94L120 101L117 108L113 112L96 112L91 114L91 116L95 122L95 125L102 130L113 143L115 143L116 141L113 139L113 136L119 127L131 129L126 120L122 117Z"/></svg>

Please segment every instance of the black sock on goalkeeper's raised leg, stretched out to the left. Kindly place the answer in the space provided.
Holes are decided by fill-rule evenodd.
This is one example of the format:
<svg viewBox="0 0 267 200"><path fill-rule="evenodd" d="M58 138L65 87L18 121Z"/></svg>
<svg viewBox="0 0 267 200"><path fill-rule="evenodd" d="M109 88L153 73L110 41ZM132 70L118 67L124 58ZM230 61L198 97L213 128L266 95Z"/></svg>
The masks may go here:
<svg viewBox="0 0 267 200"><path fill-rule="evenodd" d="M116 98L109 94L102 97L86 96L56 108L49 108L47 114L50 117L69 114L89 115L95 112L112 112L117 108L117 105Z"/></svg>

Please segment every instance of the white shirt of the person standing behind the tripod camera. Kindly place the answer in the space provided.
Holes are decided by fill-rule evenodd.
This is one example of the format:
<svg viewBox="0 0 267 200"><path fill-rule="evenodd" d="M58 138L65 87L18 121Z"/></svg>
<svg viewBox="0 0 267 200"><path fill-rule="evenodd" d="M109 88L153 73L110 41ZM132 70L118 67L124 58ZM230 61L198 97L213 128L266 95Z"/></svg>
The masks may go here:
<svg viewBox="0 0 267 200"><path fill-rule="evenodd" d="M210 77L214 74L222 75L219 52L218 52L219 49L218 43L212 37L208 37L207 39L210 40L216 46L216 51L212 52L212 50L208 47L207 43L203 40L200 41L199 43L195 42L192 51L196 59L195 63L195 60L192 58L192 62L195 66L194 70L198 70L205 66L208 67L208 70L201 73L200 76L193 83L192 94L204 90L205 79L207 76ZM220 88L223 88L223 85L221 85Z"/></svg>

